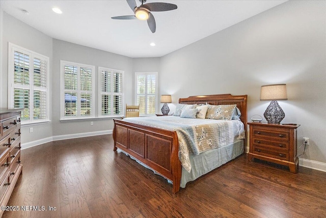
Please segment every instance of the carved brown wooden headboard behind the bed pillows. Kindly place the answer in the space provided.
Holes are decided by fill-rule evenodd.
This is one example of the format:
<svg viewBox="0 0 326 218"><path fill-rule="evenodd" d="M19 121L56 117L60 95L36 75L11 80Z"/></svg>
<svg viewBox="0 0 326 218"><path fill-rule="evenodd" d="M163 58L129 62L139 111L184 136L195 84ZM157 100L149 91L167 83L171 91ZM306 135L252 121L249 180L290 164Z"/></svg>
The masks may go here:
<svg viewBox="0 0 326 218"><path fill-rule="evenodd" d="M180 104L236 104L241 112L240 120L244 124L244 130L246 131L247 138L247 95L197 95L189 96L187 98L179 98ZM244 140L244 145L246 147L246 140Z"/></svg>

